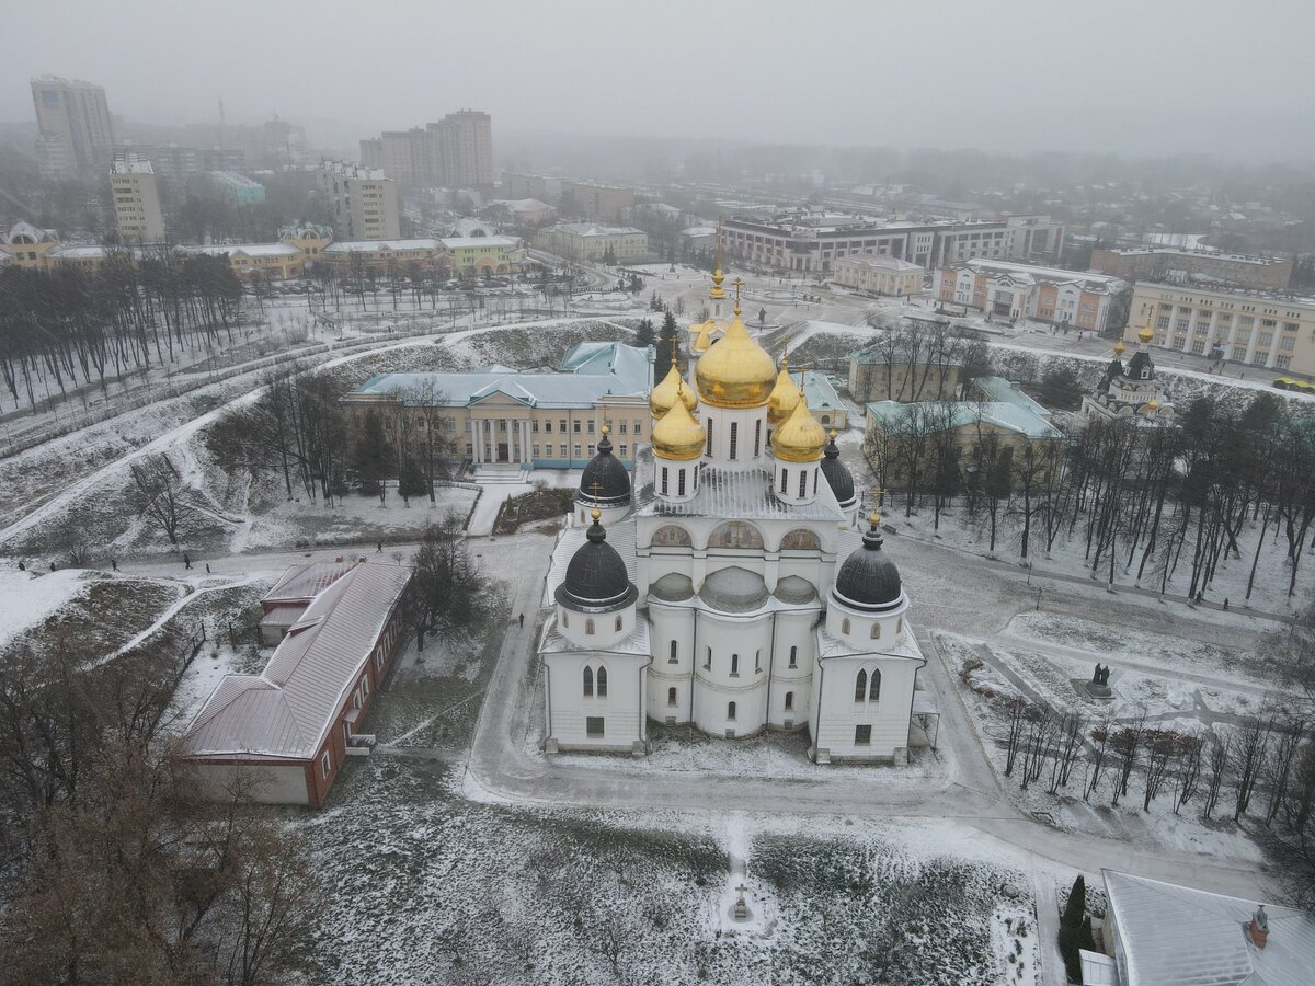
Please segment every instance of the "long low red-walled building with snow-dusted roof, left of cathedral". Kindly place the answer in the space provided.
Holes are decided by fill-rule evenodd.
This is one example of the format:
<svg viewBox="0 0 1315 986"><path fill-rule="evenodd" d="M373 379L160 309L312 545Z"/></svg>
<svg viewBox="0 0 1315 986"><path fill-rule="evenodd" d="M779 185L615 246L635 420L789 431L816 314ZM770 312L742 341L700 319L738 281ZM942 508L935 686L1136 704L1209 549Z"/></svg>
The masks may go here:
<svg viewBox="0 0 1315 986"><path fill-rule="evenodd" d="M262 636L281 642L259 674L227 674L183 738L216 789L255 801L323 803L370 701L406 635L412 569L381 563L293 565L266 594Z"/></svg>

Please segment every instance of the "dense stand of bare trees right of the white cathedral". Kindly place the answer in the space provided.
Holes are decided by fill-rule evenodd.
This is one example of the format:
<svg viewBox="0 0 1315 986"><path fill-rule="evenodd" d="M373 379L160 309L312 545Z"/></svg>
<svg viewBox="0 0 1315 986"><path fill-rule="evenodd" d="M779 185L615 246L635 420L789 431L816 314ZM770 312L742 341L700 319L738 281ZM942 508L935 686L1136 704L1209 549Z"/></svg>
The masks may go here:
<svg viewBox="0 0 1315 986"><path fill-rule="evenodd" d="M1249 565L1249 599L1266 538L1283 547L1293 596L1315 522L1315 419L1265 393L1237 410L1197 398L1176 427L1095 418L1064 438L1003 438L970 402L924 405L865 451L906 517L930 504L939 528L959 502L990 551L1007 519L1022 559L1080 539L1093 573L1152 576L1164 592L1181 569L1191 597L1232 559Z"/></svg>

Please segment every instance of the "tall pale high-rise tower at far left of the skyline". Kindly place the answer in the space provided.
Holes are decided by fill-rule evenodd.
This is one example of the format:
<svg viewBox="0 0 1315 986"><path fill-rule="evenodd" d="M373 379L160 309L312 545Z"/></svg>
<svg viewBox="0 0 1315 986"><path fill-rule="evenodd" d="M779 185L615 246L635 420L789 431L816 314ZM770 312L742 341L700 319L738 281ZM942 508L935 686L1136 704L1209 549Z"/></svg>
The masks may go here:
<svg viewBox="0 0 1315 986"><path fill-rule="evenodd" d="M105 89L88 82L42 75L32 80L37 108L37 163L46 179L104 174L112 159L114 122Z"/></svg>

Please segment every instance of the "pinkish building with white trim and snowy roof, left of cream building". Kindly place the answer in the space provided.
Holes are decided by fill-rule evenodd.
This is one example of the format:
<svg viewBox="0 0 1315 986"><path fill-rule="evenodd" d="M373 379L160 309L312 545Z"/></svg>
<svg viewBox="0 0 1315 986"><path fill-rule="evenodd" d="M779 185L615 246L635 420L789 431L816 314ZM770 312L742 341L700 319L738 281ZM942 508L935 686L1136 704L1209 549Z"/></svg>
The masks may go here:
<svg viewBox="0 0 1315 986"><path fill-rule="evenodd" d="M1126 281L1102 273L974 259L936 271L932 294L998 318L1035 318L1099 333Z"/></svg>

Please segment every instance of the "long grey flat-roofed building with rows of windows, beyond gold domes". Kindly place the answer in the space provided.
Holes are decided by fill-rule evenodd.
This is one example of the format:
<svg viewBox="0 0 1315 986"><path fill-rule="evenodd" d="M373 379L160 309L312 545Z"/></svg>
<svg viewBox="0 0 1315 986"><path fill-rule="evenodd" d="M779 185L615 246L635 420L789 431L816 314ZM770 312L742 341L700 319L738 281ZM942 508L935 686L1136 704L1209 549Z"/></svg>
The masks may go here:
<svg viewBox="0 0 1315 986"><path fill-rule="evenodd" d="M1016 227L1009 220L894 222L847 213L796 213L761 220L732 216L721 245L732 263L792 273L830 273L856 254L896 256L923 268L972 258L1014 256Z"/></svg>

